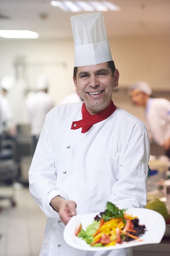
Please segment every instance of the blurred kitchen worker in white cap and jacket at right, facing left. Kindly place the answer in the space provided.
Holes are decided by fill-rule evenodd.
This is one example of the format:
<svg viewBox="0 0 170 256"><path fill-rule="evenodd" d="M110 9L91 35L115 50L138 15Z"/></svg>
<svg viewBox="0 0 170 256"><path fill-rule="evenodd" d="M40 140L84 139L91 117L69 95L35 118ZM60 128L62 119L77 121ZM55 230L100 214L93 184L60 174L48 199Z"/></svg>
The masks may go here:
<svg viewBox="0 0 170 256"><path fill-rule="evenodd" d="M136 106L145 108L146 127L150 141L154 140L170 158L170 101L151 98L148 83L139 81L129 87L129 94Z"/></svg>

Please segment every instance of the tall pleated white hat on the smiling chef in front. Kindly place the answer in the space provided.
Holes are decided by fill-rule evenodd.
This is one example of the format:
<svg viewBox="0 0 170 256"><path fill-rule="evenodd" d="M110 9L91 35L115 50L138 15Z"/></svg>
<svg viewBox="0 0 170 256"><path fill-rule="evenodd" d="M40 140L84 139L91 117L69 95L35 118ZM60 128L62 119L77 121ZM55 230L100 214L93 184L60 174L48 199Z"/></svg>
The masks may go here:
<svg viewBox="0 0 170 256"><path fill-rule="evenodd" d="M74 38L74 66L112 61L105 22L100 11L70 17Z"/></svg>

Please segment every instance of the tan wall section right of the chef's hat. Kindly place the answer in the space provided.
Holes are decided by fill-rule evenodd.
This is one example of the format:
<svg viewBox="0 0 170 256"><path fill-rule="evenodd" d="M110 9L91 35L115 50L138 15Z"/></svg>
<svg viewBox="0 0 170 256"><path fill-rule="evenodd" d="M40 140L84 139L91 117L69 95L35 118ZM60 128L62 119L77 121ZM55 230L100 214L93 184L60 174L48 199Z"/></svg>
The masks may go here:
<svg viewBox="0 0 170 256"><path fill-rule="evenodd" d="M144 80L170 90L170 38L116 38L110 44L121 85Z"/></svg>

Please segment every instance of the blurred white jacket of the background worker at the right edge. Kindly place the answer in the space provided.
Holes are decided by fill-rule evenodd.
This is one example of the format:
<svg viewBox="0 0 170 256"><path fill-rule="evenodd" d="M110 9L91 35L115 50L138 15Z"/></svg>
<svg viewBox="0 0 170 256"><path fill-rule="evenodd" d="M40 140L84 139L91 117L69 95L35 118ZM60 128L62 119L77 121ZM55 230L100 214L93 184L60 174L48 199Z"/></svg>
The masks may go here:
<svg viewBox="0 0 170 256"><path fill-rule="evenodd" d="M162 146L170 138L170 101L149 98L145 111L146 127L150 140Z"/></svg>

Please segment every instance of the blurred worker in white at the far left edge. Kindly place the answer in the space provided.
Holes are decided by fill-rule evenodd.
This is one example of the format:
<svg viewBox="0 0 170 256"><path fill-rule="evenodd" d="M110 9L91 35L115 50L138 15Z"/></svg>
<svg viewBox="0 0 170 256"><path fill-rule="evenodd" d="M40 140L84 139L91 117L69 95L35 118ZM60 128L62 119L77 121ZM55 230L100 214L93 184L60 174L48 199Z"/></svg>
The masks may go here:
<svg viewBox="0 0 170 256"><path fill-rule="evenodd" d="M12 76L4 76L0 82L1 85L1 105L2 105L2 112L3 115L1 117L1 127L4 130L7 137L15 137L16 135L16 126L13 117L13 112L11 110L11 106L9 100L7 98L7 94L9 90L14 85L14 79Z"/></svg>

